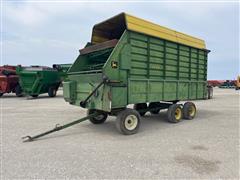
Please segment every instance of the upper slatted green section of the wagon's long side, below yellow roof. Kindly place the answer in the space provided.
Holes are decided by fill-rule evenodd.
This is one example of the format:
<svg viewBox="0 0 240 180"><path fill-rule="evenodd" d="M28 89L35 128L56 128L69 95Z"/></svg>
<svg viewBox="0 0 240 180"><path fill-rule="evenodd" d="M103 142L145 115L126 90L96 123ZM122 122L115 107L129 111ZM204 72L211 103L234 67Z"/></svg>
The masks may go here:
<svg viewBox="0 0 240 180"><path fill-rule="evenodd" d="M159 38L130 32L134 78L205 81L207 52Z"/></svg>

